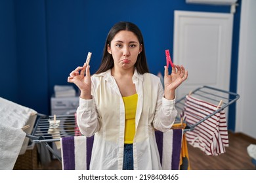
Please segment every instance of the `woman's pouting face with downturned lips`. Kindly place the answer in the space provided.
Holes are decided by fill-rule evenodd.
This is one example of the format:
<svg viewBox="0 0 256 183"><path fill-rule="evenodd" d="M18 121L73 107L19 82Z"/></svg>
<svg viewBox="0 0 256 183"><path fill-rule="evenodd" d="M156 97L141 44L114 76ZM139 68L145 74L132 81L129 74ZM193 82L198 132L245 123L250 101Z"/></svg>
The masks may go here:
<svg viewBox="0 0 256 183"><path fill-rule="evenodd" d="M141 51L142 44L131 31L119 31L108 45L108 52L113 56L114 66L123 69L133 68Z"/></svg>

